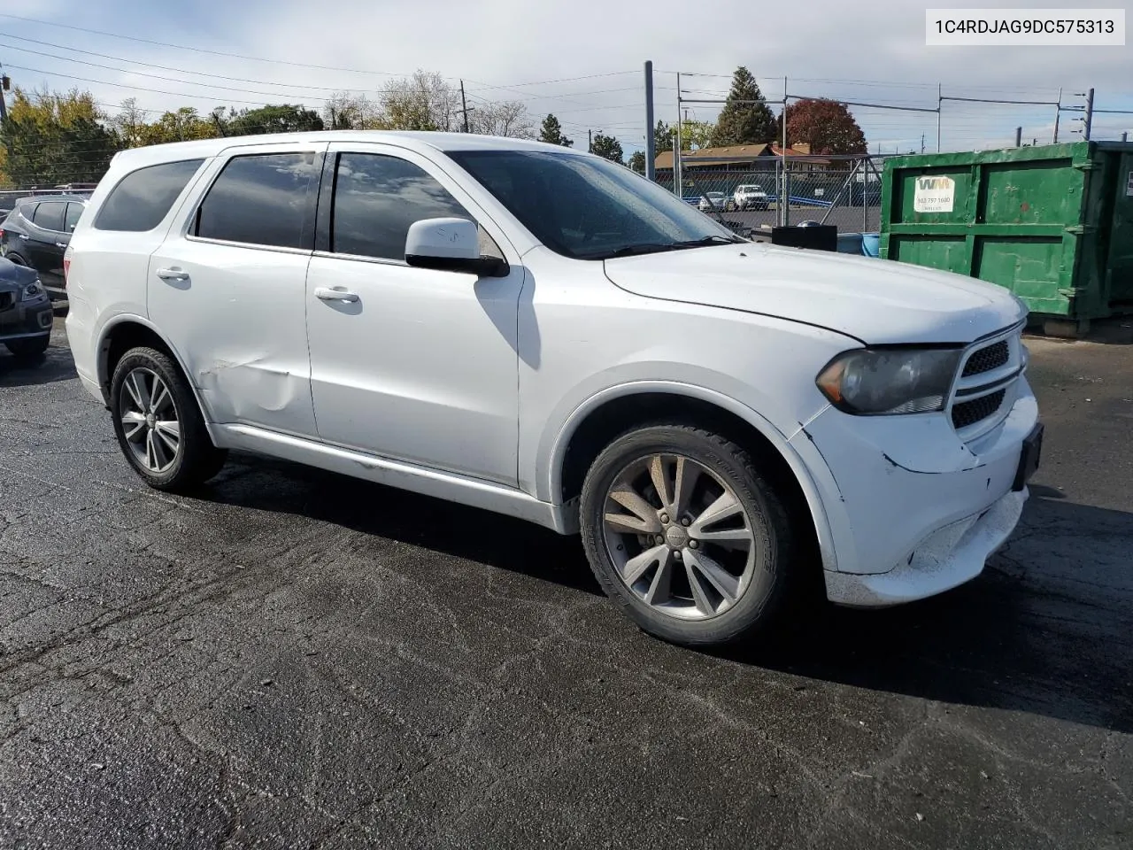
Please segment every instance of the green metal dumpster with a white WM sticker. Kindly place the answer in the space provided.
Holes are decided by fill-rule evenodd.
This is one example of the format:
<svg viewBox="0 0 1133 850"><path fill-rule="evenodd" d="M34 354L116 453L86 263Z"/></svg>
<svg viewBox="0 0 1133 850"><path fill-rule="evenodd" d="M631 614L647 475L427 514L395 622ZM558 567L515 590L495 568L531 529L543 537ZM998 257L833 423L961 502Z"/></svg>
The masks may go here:
<svg viewBox="0 0 1133 850"><path fill-rule="evenodd" d="M1053 334L1133 313L1133 143L889 159L880 255L1006 287Z"/></svg>

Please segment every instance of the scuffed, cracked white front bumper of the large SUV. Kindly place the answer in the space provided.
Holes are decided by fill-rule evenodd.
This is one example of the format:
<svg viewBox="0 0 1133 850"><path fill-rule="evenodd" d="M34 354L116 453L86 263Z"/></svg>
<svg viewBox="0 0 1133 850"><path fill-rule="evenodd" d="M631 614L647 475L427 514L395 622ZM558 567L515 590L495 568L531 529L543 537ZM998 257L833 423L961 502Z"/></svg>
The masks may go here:
<svg viewBox="0 0 1133 850"><path fill-rule="evenodd" d="M1038 422L1024 377L1007 417L969 444L943 416L897 418L830 408L792 440L816 449L825 466L812 477L833 537L825 571L832 602L894 605L963 584L1022 513L1028 491L1014 487Z"/></svg>

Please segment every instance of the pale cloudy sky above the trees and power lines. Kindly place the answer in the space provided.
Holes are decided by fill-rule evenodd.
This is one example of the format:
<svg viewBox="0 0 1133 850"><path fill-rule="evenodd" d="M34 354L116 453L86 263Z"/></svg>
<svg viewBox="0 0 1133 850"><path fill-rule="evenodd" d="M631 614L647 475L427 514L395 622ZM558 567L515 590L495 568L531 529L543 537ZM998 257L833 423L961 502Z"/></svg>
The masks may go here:
<svg viewBox="0 0 1133 850"><path fill-rule="evenodd" d="M152 110L264 102L320 109L333 90L373 96L391 77L424 68L463 79L470 105L521 100L539 119L554 112L576 146L585 146L588 129L600 129L627 154L644 145L646 59L655 67L656 114L666 120L676 117L676 71L685 97L710 100L723 97L739 65L769 99L782 97L785 76L792 95L928 109L937 105L938 84L945 96L1041 103L1057 101L1060 88L1065 105L1080 105L1076 95L1093 86L1096 108L1133 110L1133 48L929 48L925 6L25 0L0 14L0 62L18 85L77 85L111 111L130 96ZM718 108L687 109L710 120ZM853 111L870 150L919 150L922 135L926 150L936 146L936 114ZM943 147L1007 144L1016 126L1024 141L1049 142L1054 117L1053 105L946 101ZM1063 113L1060 141L1073 138L1074 118ZM1133 131L1133 114L1098 114L1093 128L1096 138L1116 138Z"/></svg>

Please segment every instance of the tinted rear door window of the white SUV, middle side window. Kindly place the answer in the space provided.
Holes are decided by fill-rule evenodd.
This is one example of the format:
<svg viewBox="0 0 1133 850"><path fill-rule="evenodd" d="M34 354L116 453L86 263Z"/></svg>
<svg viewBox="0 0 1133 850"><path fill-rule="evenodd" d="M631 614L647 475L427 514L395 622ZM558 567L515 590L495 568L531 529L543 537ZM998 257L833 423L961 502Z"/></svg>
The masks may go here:
<svg viewBox="0 0 1133 850"><path fill-rule="evenodd" d="M314 153L233 158L197 210L194 235L203 239L309 248L321 163Z"/></svg>

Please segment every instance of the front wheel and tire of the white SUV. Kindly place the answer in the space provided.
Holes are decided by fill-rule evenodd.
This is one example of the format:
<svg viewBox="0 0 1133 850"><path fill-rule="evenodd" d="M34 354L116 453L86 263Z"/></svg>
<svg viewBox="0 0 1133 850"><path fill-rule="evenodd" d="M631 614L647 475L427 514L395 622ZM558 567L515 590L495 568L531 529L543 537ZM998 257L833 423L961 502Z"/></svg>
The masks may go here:
<svg viewBox="0 0 1133 850"><path fill-rule="evenodd" d="M654 484L656 458L664 498ZM678 466L685 484L693 481L683 499L676 498ZM676 505L674 516L666 504ZM606 595L641 629L670 643L722 646L765 631L794 585L795 544L783 500L747 450L688 424L637 427L606 447L582 485L580 525Z"/></svg>

